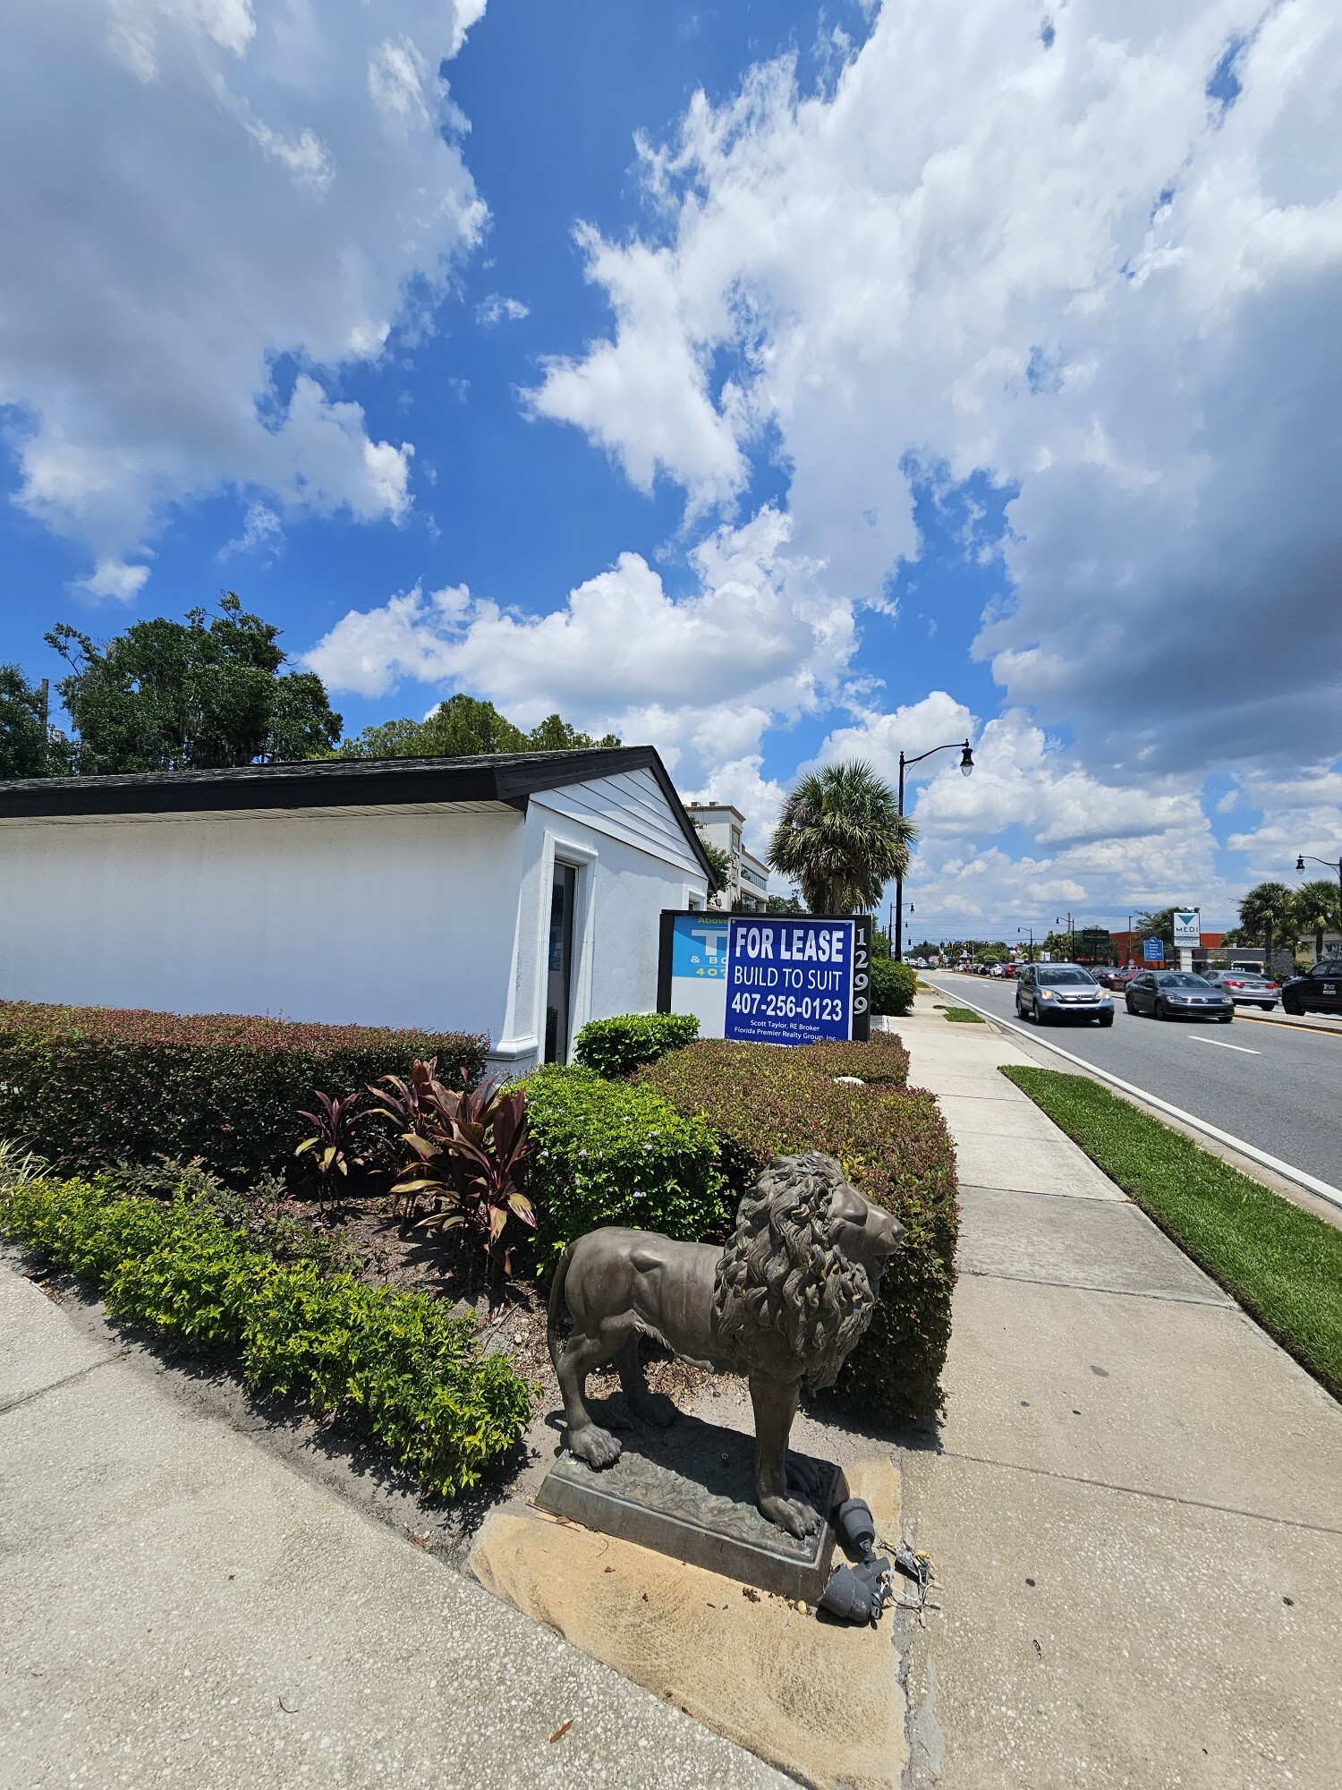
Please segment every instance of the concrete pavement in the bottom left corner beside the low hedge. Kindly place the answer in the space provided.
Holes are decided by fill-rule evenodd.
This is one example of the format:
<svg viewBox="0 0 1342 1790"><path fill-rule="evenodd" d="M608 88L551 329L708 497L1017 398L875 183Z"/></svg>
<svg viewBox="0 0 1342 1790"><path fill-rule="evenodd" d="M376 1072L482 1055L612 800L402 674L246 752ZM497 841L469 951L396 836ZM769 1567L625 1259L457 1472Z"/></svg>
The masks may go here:
<svg viewBox="0 0 1342 1790"><path fill-rule="evenodd" d="M193 1409L154 1357L0 1260L0 1785L150 1783L784 1779Z"/></svg>

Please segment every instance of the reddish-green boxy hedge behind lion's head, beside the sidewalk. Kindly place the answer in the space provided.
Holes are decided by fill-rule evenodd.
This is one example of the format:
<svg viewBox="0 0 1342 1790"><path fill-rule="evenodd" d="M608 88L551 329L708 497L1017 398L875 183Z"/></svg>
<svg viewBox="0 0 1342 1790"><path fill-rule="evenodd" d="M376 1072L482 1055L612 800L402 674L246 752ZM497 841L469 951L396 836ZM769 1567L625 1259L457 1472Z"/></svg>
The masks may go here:
<svg viewBox="0 0 1342 1790"><path fill-rule="evenodd" d="M732 1198L773 1158L807 1149L837 1156L854 1187L905 1226L886 1267L875 1317L848 1357L832 1396L882 1423L927 1423L941 1407L956 1283L956 1151L936 1099L891 1081L836 1083L827 1045L773 1049L705 1038L641 1069L633 1087L664 1095L719 1138ZM898 1038L848 1045L862 1074L871 1061L907 1056ZM871 1070L862 1074L877 1083Z"/></svg>

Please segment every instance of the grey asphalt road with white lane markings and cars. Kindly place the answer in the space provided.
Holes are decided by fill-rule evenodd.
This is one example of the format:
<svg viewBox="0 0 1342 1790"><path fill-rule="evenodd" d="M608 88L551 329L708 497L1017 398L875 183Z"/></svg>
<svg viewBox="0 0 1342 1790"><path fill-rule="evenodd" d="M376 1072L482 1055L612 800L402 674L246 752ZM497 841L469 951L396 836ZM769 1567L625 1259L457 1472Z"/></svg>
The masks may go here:
<svg viewBox="0 0 1342 1790"><path fill-rule="evenodd" d="M923 970L947 997L1015 1020L1016 988L988 976ZM1031 1038L1054 1040L1143 1094L1181 1106L1231 1137L1306 1174L1342 1187L1342 1036L1240 1020L1136 1019L1115 995L1113 1026L1022 1022ZM1233 1047L1233 1049L1231 1049ZM1057 1063L1066 1069L1066 1063Z"/></svg>

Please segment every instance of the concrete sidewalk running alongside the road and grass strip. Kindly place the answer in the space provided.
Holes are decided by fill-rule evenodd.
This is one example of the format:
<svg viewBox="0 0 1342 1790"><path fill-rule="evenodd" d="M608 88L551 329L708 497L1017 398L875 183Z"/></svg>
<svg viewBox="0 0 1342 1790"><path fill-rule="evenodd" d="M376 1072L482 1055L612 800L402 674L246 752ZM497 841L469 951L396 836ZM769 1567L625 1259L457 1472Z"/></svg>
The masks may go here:
<svg viewBox="0 0 1342 1790"><path fill-rule="evenodd" d="M1337 1790L1342 1409L932 999L893 1022L963 1201L947 1423L902 1450L916 1781Z"/></svg>

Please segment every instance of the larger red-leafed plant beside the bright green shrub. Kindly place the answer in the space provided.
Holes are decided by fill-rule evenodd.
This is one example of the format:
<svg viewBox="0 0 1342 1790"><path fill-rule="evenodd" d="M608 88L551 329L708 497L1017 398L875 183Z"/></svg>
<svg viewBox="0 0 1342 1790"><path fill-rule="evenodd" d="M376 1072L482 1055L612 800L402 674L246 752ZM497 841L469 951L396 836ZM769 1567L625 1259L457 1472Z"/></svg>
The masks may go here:
<svg viewBox="0 0 1342 1790"><path fill-rule="evenodd" d="M512 1271L503 1249L508 1219L535 1230L535 1208L517 1185L531 1155L526 1090L485 1081L472 1088L446 1087L437 1063L415 1061L410 1079L385 1076L369 1090L399 1128L406 1165L392 1189L406 1201L406 1217L428 1194L435 1208L417 1219L422 1230L460 1230L485 1249L490 1269Z"/></svg>

